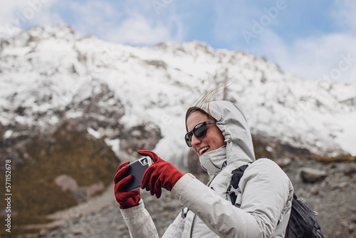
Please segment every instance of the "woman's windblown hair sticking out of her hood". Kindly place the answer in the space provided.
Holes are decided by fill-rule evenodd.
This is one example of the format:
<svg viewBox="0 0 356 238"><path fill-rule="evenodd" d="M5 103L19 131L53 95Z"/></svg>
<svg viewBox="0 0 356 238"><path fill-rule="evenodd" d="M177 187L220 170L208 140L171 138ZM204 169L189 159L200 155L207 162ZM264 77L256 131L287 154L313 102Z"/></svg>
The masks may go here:
<svg viewBox="0 0 356 238"><path fill-rule="evenodd" d="M185 123L186 123L187 131L188 131L187 119L188 119L189 115L192 115L192 113L196 112L197 110L201 113L206 114L208 116L208 118L215 120L215 118L211 115L210 110L209 110L209 104L210 104L211 98L213 98L213 96L217 92L219 92L219 90L223 90L223 89L229 87L232 83L234 83L234 82L231 82L232 78L234 78L234 77L231 77L228 80L226 80L222 83L219 83L215 88L213 88L211 90L209 90L209 88L210 88L209 87L208 89L206 89L204 91L204 93L201 93L199 98L197 98L197 100L195 100L194 103L192 103L192 105L188 108L187 113L185 114ZM206 108L206 110L204 110L204 108Z"/></svg>

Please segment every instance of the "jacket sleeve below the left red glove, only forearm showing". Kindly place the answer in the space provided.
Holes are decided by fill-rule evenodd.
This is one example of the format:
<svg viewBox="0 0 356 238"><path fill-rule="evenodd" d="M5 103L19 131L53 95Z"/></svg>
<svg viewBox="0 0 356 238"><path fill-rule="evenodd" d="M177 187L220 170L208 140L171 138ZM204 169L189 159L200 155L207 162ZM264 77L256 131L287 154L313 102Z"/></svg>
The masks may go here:
<svg viewBox="0 0 356 238"><path fill-rule="evenodd" d="M120 209L127 228L132 238L158 237L157 229L152 221L150 214L145 209L143 200L139 205L127 209Z"/></svg>

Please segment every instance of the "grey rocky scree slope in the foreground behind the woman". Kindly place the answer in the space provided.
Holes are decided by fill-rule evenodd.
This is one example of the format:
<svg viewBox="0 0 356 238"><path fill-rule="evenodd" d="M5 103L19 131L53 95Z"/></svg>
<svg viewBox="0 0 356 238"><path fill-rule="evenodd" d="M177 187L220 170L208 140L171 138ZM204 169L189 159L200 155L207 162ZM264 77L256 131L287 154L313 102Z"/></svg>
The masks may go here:
<svg viewBox="0 0 356 238"><path fill-rule="evenodd" d="M356 236L356 164L355 162L318 162L315 160L277 161L293 181L295 192L303 197L309 207L318 212L318 222L326 238L345 238ZM313 168L315 182L303 182L300 171ZM318 172L326 177L318 181ZM199 175L206 181L204 175ZM314 181L314 180L313 180ZM317 182L318 181L318 182ZM112 187L108 191L112 195ZM142 191L145 206L154 220L159 235L179 213L179 202L164 190L157 200L149 192ZM54 237L130 237L115 198L112 203L88 214L80 214L63 226L48 232L43 229L42 238Z"/></svg>

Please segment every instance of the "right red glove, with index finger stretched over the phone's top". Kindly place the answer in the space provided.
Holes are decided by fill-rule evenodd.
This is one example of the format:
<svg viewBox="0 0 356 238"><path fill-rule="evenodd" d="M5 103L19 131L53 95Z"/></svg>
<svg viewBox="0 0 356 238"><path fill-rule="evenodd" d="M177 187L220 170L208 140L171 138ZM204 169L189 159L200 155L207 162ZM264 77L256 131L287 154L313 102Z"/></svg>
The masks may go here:
<svg viewBox="0 0 356 238"><path fill-rule="evenodd" d="M162 160L154 152L149 150L139 150L138 152L141 155L150 156L154 162L147 168L141 182L142 189L149 185L151 195L156 195L157 198L161 197L161 187L171 191L176 182L184 175L177 167Z"/></svg>

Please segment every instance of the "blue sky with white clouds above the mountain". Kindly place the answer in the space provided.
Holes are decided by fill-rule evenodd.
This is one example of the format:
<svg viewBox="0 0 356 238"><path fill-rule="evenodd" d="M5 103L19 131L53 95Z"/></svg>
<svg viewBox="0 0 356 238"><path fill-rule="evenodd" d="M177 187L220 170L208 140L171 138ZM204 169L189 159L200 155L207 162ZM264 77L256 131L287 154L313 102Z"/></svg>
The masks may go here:
<svg viewBox="0 0 356 238"><path fill-rule="evenodd" d="M0 2L2 37L61 22L115 43L201 41L267 58L307 80L356 81L355 0Z"/></svg>

